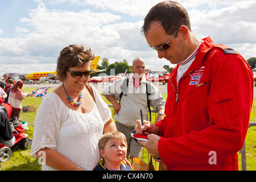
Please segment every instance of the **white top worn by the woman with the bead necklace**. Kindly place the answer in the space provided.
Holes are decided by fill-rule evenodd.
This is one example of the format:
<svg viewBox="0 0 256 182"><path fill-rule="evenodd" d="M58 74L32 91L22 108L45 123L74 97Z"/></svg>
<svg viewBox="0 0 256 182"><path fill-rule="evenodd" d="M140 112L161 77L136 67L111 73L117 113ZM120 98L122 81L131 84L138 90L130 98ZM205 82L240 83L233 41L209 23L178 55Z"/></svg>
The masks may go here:
<svg viewBox="0 0 256 182"><path fill-rule="evenodd" d="M109 106L92 86L93 109L90 113L77 113L69 109L57 94L51 92L42 101L35 118L31 156L41 148L51 148L85 170L93 170L101 156L98 140L104 125L111 117ZM55 170L42 164L42 171Z"/></svg>

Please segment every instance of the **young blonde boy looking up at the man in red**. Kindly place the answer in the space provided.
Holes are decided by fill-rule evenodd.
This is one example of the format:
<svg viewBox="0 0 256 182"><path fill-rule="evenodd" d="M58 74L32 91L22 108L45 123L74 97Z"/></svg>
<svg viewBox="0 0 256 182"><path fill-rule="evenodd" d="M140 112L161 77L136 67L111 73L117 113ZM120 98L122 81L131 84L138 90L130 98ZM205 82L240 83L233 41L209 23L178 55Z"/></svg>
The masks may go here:
<svg viewBox="0 0 256 182"><path fill-rule="evenodd" d="M100 138L100 155L102 160L93 171L131 171L131 168L123 163L126 158L126 137L119 131L110 131Z"/></svg>

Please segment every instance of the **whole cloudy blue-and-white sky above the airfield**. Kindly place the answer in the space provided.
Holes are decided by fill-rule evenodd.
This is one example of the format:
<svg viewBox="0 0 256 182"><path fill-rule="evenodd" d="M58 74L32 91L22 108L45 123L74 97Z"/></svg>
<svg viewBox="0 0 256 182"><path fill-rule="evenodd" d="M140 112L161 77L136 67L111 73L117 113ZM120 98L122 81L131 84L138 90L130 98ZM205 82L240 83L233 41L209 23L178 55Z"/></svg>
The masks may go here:
<svg viewBox="0 0 256 182"><path fill-rule="evenodd" d="M61 49L92 48L110 63L143 57L146 67L170 65L158 59L141 33L143 19L158 0L9 0L0 2L0 75L55 71ZM180 0L200 39L256 57L256 1Z"/></svg>

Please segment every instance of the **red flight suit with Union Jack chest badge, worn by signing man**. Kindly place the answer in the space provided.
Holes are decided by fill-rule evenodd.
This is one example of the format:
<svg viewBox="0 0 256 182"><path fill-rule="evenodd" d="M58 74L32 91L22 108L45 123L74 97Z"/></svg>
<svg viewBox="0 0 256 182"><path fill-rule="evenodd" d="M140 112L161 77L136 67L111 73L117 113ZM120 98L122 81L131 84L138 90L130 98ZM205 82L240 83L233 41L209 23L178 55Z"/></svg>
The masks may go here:
<svg viewBox="0 0 256 182"><path fill-rule="evenodd" d="M168 82L166 117L156 123L167 170L238 170L253 103L253 72L243 57L203 39L177 86Z"/></svg>

